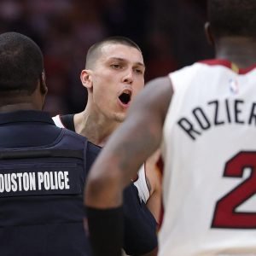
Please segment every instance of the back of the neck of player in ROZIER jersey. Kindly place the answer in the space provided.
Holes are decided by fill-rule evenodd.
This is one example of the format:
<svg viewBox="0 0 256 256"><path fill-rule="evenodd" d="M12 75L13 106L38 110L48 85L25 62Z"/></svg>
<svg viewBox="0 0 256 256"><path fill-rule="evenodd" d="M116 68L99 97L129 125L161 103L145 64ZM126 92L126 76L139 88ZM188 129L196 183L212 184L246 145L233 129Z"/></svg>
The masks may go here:
<svg viewBox="0 0 256 256"><path fill-rule="evenodd" d="M221 38L215 45L216 58L245 68L256 64L256 40L253 38Z"/></svg>

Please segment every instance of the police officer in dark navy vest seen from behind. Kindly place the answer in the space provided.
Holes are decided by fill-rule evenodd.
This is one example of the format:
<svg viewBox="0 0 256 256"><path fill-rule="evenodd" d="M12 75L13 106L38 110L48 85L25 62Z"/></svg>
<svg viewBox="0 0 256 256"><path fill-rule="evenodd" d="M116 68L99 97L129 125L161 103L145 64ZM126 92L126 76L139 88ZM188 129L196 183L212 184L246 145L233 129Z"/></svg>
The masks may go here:
<svg viewBox="0 0 256 256"><path fill-rule="evenodd" d="M0 34L0 255L90 256L84 178L97 148L55 126L41 50Z"/></svg>

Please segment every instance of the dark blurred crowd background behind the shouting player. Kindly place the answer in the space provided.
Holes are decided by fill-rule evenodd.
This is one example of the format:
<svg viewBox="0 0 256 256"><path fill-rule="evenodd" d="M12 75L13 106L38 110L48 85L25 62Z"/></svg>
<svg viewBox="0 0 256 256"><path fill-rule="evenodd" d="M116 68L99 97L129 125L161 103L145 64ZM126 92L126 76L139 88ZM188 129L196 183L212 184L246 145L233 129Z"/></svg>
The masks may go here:
<svg viewBox="0 0 256 256"><path fill-rule="evenodd" d="M0 32L26 34L44 53L46 110L82 111L79 76L91 44L125 36L142 49L146 81L212 58L204 23L206 0L1 0ZM154 92L153 92L154 93Z"/></svg>

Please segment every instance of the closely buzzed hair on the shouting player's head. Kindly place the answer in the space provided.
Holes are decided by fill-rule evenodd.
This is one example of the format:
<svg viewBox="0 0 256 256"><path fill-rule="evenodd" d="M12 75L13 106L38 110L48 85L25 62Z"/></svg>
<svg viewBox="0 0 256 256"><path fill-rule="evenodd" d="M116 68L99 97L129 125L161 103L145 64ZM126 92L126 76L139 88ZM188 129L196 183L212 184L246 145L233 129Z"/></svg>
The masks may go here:
<svg viewBox="0 0 256 256"><path fill-rule="evenodd" d="M124 44L127 46L131 46L133 48L136 48L138 51L142 53L142 50L140 47L132 41L130 38L125 38L122 36L113 36L109 38L105 38L100 42L97 42L96 44L93 44L90 46L90 49L87 51L86 55L86 63L85 68L91 68L93 67L93 64L95 63L96 59L99 56L99 49L102 49L102 46L105 44Z"/></svg>

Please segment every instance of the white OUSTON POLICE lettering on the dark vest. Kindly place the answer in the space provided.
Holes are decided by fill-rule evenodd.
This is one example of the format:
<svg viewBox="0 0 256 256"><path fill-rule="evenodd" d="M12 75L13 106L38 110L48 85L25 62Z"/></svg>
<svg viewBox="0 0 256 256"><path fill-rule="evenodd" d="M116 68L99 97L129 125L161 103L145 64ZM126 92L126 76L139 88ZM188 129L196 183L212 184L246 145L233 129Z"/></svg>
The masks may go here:
<svg viewBox="0 0 256 256"><path fill-rule="evenodd" d="M0 173L0 194L33 190L70 189L68 172Z"/></svg>

